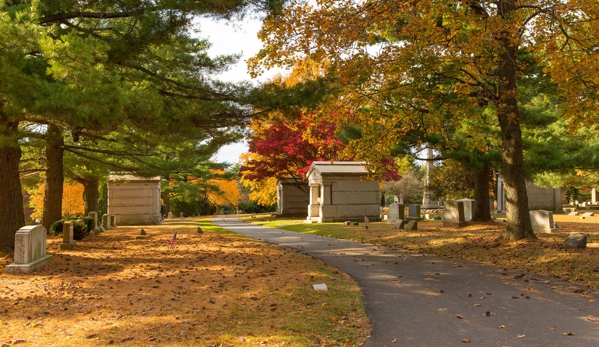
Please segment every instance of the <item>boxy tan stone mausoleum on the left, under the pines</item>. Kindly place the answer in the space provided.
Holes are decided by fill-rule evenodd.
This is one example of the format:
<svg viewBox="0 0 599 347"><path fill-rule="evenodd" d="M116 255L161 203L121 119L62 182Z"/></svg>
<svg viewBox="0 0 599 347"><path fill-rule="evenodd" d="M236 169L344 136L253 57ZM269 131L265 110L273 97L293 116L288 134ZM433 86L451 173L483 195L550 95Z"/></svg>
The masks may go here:
<svg viewBox="0 0 599 347"><path fill-rule="evenodd" d="M110 175L108 214L116 216L116 225L159 224L160 177Z"/></svg>

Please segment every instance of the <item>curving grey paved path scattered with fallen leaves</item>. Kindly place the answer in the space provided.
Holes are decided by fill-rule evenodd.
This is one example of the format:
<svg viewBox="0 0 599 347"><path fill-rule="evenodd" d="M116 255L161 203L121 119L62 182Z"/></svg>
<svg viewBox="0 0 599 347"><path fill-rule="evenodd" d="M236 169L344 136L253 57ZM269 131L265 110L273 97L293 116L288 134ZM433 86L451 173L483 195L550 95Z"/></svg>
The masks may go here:
<svg viewBox="0 0 599 347"><path fill-rule="evenodd" d="M298 249L351 275L372 321L365 347L599 346L599 296L581 286L503 267L255 226L235 217L213 223Z"/></svg>

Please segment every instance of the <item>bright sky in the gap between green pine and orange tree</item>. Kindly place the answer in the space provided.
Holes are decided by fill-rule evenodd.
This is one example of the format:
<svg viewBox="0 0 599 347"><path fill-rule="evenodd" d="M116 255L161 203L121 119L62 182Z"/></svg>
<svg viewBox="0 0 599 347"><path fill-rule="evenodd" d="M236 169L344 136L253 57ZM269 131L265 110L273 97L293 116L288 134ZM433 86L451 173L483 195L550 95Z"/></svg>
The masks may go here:
<svg viewBox="0 0 599 347"><path fill-rule="evenodd" d="M229 71L218 76L219 80L251 80L250 75L247 73L245 61L258 53L262 47L262 42L257 37L261 26L262 22L258 19L246 19L243 22L233 22L232 25L225 21L216 22L209 19L200 21L201 36L208 39L212 44L208 50L212 56L242 54L241 59L236 65L232 66ZM276 73L270 72L252 81L256 83L264 82ZM247 149L247 143L245 142L227 145L222 147L213 159L218 162L235 164L239 161L239 155L247 152Z"/></svg>

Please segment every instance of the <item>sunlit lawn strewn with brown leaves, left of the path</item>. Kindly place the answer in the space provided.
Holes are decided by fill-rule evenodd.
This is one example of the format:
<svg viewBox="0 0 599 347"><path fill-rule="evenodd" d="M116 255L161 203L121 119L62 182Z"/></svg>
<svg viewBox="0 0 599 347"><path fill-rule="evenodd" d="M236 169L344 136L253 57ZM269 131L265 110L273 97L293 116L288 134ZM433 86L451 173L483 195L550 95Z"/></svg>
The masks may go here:
<svg viewBox="0 0 599 347"><path fill-rule="evenodd" d="M198 221L118 227L52 261L4 273L0 344L23 346L358 346L361 295L322 263ZM178 233L176 249L168 240ZM312 290L325 282L328 292Z"/></svg>

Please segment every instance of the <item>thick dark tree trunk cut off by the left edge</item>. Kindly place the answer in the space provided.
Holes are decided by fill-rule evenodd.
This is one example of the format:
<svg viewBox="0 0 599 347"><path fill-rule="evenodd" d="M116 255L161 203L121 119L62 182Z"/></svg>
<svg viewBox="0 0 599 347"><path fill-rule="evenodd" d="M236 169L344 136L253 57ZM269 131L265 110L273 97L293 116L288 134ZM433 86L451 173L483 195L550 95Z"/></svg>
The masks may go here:
<svg viewBox="0 0 599 347"><path fill-rule="evenodd" d="M18 123L0 124L0 249L10 255L15 248L15 234L25 225L23 194L19 178L21 147L15 137Z"/></svg>

